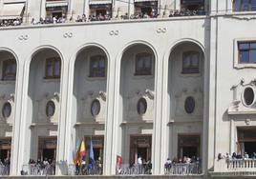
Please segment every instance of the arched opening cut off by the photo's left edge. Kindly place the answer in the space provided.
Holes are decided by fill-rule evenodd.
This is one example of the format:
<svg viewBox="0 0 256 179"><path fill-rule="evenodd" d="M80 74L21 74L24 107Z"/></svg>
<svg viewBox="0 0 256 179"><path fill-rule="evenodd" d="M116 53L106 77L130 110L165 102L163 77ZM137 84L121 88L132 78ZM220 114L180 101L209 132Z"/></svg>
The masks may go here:
<svg viewBox="0 0 256 179"><path fill-rule="evenodd" d="M0 50L0 161L1 174L9 175L11 166L11 139L15 113L15 83L17 62L8 50Z"/></svg>

